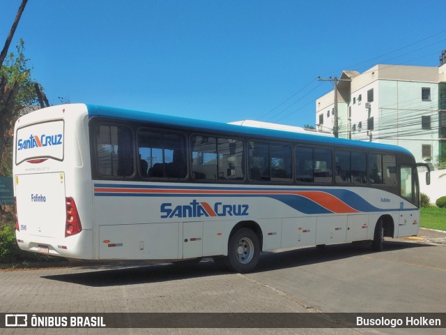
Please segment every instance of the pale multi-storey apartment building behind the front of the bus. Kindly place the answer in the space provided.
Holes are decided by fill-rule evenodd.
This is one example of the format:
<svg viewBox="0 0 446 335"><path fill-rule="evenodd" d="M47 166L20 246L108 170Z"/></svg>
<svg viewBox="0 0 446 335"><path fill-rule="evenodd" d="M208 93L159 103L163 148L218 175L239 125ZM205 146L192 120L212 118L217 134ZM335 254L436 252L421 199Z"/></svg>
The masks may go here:
<svg viewBox="0 0 446 335"><path fill-rule="evenodd" d="M316 100L316 126L334 128L334 91ZM378 64L337 82L339 137L397 144L417 162L446 168L446 64Z"/></svg>

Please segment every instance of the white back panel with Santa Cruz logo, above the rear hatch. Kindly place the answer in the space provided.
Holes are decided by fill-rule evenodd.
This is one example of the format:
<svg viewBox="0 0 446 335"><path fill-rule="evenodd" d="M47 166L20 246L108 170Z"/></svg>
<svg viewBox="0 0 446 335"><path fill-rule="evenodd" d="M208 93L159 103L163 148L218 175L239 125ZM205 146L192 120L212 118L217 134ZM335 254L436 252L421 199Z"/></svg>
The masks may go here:
<svg viewBox="0 0 446 335"><path fill-rule="evenodd" d="M63 120L19 128L15 134L15 164L36 158L63 161L63 140Z"/></svg>

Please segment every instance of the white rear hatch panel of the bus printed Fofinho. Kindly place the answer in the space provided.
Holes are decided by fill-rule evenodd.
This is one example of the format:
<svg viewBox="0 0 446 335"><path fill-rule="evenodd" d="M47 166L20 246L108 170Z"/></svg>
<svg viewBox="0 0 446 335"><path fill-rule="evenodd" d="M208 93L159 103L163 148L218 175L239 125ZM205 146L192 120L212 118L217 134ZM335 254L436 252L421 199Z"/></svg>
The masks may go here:
<svg viewBox="0 0 446 335"><path fill-rule="evenodd" d="M17 174L14 182L20 232L64 238L66 199L63 172Z"/></svg>

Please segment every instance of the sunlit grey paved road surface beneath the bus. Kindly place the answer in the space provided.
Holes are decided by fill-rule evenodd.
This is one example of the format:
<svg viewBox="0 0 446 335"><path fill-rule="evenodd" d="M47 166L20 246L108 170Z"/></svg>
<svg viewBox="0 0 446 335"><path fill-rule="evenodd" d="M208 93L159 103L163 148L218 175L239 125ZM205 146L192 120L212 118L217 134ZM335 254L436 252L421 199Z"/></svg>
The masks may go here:
<svg viewBox="0 0 446 335"><path fill-rule="evenodd" d="M423 235L420 232L420 235ZM426 239L441 238L432 237ZM0 272L0 313L443 312L446 247L396 239L386 251L341 244L266 253L252 274L211 260L180 267L68 267ZM13 332L11 332L13 330ZM429 334L443 334L429 329ZM444 329L440 329L444 330ZM86 329L0 329L85 334ZM89 334L407 334L401 329L88 329ZM420 329L410 329L420 334ZM426 334L426 332L424 332Z"/></svg>

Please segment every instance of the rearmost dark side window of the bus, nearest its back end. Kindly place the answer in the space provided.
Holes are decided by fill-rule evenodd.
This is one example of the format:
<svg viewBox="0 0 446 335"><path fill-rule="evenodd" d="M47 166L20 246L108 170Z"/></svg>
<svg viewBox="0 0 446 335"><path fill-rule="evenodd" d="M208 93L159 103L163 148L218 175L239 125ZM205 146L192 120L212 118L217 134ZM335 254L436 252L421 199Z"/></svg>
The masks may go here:
<svg viewBox="0 0 446 335"><path fill-rule="evenodd" d="M130 177L134 171L132 130L100 124L96 128L96 166L106 177Z"/></svg>

